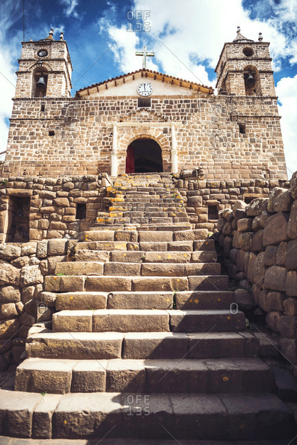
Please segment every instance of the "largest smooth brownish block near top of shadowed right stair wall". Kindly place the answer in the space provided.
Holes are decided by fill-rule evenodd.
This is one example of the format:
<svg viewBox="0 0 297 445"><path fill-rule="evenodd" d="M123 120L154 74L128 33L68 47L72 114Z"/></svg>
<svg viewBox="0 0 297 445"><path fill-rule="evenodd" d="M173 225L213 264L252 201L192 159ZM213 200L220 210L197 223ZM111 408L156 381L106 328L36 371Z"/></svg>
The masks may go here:
<svg viewBox="0 0 297 445"><path fill-rule="evenodd" d="M270 244L279 244L280 242L287 241L289 239L287 236L288 220L288 214L283 212L276 213L268 218L265 223L263 233L264 247L269 246Z"/></svg>

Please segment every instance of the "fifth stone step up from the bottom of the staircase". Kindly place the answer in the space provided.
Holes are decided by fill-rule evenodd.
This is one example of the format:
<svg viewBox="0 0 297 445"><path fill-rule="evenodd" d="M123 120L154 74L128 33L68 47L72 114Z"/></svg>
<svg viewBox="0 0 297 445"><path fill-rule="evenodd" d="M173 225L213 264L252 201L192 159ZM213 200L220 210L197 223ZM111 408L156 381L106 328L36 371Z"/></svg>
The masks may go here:
<svg viewBox="0 0 297 445"><path fill-rule="evenodd" d="M47 293L44 292L44 298ZM64 292L54 294L55 308L87 309L231 309L236 310L233 292Z"/></svg>

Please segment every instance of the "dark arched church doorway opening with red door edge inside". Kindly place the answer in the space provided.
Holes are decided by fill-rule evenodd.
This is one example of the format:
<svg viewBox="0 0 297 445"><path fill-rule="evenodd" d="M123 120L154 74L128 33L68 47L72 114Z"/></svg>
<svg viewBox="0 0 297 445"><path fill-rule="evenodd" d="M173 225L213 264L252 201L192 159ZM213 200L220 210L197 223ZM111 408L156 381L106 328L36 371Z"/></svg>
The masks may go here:
<svg viewBox="0 0 297 445"><path fill-rule="evenodd" d="M153 173L163 171L162 149L149 138L133 140L127 148L126 173Z"/></svg>

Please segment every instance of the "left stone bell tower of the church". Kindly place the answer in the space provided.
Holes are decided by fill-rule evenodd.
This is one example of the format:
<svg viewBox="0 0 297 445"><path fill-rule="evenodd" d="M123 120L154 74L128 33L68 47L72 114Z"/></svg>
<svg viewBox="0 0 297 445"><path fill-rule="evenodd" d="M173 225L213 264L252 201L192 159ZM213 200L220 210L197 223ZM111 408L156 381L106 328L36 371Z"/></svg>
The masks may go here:
<svg viewBox="0 0 297 445"><path fill-rule="evenodd" d="M22 45L15 97L70 97L73 68L64 33L55 40L51 29L47 38Z"/></svg>

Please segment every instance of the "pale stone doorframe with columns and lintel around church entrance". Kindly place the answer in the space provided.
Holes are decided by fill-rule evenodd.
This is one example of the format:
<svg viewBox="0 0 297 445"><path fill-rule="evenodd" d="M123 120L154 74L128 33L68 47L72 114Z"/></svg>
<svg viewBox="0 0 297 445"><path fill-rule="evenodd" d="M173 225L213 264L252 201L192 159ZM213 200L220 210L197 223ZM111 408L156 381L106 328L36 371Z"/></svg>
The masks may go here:
<svg viewBox="0 0 297 445"><path fill-rule="evenodd" d="M155 140L162 150L163 171L177 173L178 157L175 129L181 125L181 123L154 122L144 125L137 122L127 123L127 121L125 123L114 124L112 138L112 177L125 173L127 148L133 140L140 138ZM164 128L168 128L168 133L164 134Z"/></svg>

